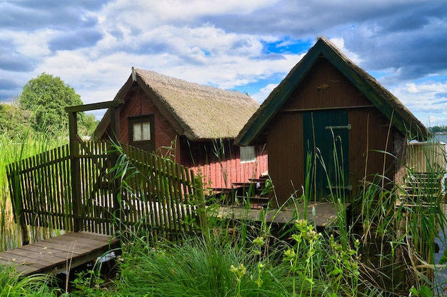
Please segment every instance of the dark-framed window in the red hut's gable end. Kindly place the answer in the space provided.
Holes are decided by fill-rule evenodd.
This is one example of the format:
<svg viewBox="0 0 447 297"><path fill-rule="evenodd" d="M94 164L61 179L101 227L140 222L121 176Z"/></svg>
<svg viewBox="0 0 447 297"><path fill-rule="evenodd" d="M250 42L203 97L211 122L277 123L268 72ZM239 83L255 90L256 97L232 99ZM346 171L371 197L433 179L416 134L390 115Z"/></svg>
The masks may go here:
<svg viewBox="0 0 447 297"><path fill-rule="evenodd" d="M144 151L155 150L154 115L129 116L129 144Z"/></svg>

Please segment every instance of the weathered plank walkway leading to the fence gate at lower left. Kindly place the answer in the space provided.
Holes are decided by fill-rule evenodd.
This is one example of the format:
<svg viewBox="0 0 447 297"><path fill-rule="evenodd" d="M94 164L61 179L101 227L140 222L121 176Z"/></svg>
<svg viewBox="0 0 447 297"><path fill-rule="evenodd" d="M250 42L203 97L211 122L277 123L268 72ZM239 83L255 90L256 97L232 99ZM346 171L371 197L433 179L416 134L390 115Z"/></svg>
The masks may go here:
<svg viewBox="0 0 447 297"><path fill-rule="evenodd" d="M0 252L0 264L14 265L24 275L61 273L96 258L113 248L119 240L98 233L66 233L9 251Z"/></svg>

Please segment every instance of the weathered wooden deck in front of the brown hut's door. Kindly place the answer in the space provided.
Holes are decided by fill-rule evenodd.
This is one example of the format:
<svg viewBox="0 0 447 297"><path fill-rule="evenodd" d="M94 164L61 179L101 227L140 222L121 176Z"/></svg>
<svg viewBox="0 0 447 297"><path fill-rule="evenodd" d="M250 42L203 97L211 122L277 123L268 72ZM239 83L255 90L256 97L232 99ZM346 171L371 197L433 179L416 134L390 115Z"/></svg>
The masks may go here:
<svg viewBox="0 0 447 297"><path fill-rule="evenodd" d="M341 211L349 211L350 203L343 203ZM327 228L333 226L338 219L336 205L330 202L308 203L306 213L302 204L296 208L289 207L278 209L247 209L234 206L222 206L219 208L218 216L221 218L246 219L251 221L261 221L265 219L268 223L286 224L293 223L296 219L305 218L309 223L314 223L317 228ZM313 211L315 216L313 216ZM297 216L298 213L298 216Z"/></svg>

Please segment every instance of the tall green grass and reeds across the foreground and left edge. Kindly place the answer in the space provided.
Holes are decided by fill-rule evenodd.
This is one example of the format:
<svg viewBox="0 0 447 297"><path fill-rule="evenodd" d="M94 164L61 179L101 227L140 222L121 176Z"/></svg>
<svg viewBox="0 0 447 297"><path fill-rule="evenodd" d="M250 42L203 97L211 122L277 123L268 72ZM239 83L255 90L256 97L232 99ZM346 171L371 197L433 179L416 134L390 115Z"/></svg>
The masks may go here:
<svg viewBox="0 0 447 297"><path fill-rule="evenodd" d="M0 153L5 156L0 164L4 178L0 184L1 243L2 248L9 248L19 245L11 243L9 236L20 236L12 221L6 164L59 146L64 140L52 139L49 143L48 137L41 135L20 142L6 137L0 141ZM339 142L334 139L334 147ZM386 151L382 153L389 156ZM330 162L343 168L345 160L338 156L335 149ZM430 153L426 156L431 164ZM335 231L319 233L311 218L306 217L307 212L299 211L301 204L307 206L315 198L311 176L316 161L323 168L329 162L318 152L310 154L303 194L292 196L276 210L275 216L283 208L296 208L296 218L286 228L278 229L273 219L267 220L269 209L261 211L261 221L250 221L250 203L246 203L246 219L221 218L221 203L211 197L207 211L201 213L206 223L198 226L200 232L194 237L184 234L176 241L157 241L150 232L142 232L146 226L141 222L141 227L135 228L137 232L128 234L123 241L126 246L119 258L119 275L108 285L109 291L90 288L89 292L92 296L95 292L103 296L408 296L410 291L421 296L433 291L442 294L442 284L436 287L433 278L438 268L445 267L434 262L433 243L438 231L446 228L445 206L440 198L444 189L432 187L434 192L427 193L418 186L403 188L388 180L385 171L377 173L365 178L356 201L361 206L360 216L348 224L343 207L346 193L338 190L345 185L344 173L339 171L335 181L328 177L329 188L331 183L338 183L329 197L338 210L337 226ZM126 178L128 168L116 172ZM418 173L411 166L406 171L406 176ZM426 173L443 171L428 166ZM408 195L410 190L415 195ZM126 187L123 191L134 189ZM249 201L250 193L245 195ZM435 198L428 201L433 195ZM354 228L356 224L361 228ZM5 242L9 245L4 246ZM96 273L90 277L101 278ZM85 283L102 282L78 280L79 290ZM76 296L76 292L73 294Z"/></svg>

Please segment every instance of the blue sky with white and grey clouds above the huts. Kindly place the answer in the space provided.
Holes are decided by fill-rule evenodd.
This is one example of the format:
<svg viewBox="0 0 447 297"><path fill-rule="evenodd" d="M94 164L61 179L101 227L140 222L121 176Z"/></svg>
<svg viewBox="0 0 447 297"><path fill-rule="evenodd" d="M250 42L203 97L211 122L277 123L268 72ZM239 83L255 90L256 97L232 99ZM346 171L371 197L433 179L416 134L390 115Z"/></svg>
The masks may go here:
<svg viewBox="0 0 447 297"><path fill-rule="evenodd" d="M423 124L447 126L446 0L0 0L0 13L2 102L42 73L84 104L110 101L134 66L261 103L326 36Z"/></svg>

